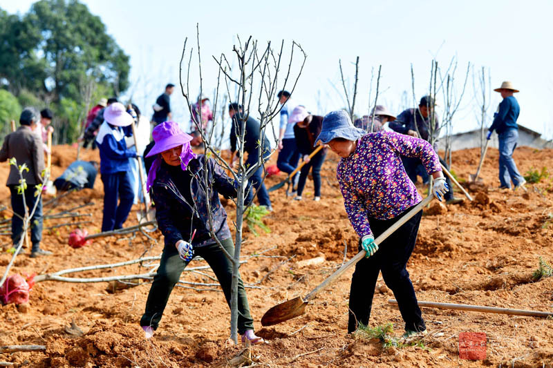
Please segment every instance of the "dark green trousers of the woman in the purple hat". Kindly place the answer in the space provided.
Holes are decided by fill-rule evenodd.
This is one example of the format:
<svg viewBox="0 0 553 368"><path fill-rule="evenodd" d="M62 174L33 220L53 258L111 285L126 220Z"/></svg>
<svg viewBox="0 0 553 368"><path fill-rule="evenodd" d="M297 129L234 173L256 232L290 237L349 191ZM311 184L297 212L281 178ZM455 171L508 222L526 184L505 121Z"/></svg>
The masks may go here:
<svg viewBox="0 0 553 368"><path fill-rule="evenodd" d="M234 254L234 243L232 238L221 242L226 251ZM230 307L230 285L232 282L232 262L217 244L202 246L194 249L194 257L203 258L215 273L221 289ZM180 274L187 267L188 262L180 259L178 251L174 246L165 247L161 255L160 267L153 277L150 293L146 302L146 311L140 320L141 326L151 326L154 330L158 328L161 316L167 305L171 291L180 278ZM191 320L192 323L195 323ZM250 316L250 306L247 304L246 291L242 278L238 278L238 333L244 333L248 329L254 329L254 320Z"/></svg>

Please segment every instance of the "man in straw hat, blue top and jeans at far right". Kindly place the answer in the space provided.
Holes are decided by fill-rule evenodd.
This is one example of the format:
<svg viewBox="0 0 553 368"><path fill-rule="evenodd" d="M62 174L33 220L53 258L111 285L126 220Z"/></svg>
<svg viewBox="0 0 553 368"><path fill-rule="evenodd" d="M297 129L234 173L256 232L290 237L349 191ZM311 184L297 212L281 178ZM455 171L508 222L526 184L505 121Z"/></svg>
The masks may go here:
<svg viewBox="0 0 553 368"><path fill-rule="evenodd" d="M513 94L518 90L513 88L510 81L504 81L500 88L494 89L501 94L503 101L499 104L498 112L494 114L494 122L489 127L487 139L491 138L491 133L496 130L499 138L499 181L500 188L510 189L511 180L514 188L523 186L526 183L524 177L518 172L513 159L514 149L518 141L518 113L521 112L520 106Z"/></svg>

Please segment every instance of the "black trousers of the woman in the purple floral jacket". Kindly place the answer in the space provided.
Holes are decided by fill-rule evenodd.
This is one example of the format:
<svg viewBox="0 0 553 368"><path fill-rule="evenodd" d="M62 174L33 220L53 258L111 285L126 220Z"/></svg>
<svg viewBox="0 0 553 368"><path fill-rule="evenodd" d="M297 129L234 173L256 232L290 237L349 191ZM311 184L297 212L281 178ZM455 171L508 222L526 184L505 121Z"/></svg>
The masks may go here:
<svg viewBox="0 0 553 368"><path fill-rule="evenodd" d="M409 210L407 209L391 220L369 218L375 238L384 233ZM382 271L382 278L384 278L386 286L393 291L395 300L397 300L400 313L405 321L405 329L411 331L426 329L415 290L406 269L407 261L411 257L417 240L421 216L422 211L411 217L411 220L388 236L384 242L378 244L379 249L375 254L369 258L363 258L355 265L350 289L348 333L355 331L359 323L368 325L380 271ZM361 250L361 241L359 240L359 251Z"/></svg>

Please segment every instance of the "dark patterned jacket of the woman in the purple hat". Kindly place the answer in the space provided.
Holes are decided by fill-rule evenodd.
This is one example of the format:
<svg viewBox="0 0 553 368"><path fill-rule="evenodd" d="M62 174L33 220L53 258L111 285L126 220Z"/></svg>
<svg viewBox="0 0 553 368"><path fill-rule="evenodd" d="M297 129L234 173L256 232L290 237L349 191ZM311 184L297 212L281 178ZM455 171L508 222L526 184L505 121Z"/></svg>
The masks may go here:
<svg viewBox="0 0 553 368"><path fill-rule="evenodd" d="M207 159L204 155L198 155L192 159L187 171L192 173L190 188L177 188L167 169L161 166L156 180L151 187L153 202L156 204L156 220L158 227L165 237L165 246L175 249L178 240L190 242L191 236L196 230L194 240L191 242L195 248L214 244L215 240L209 234L213 229L219 240L230 238L230 229L227 225L227 212L219 200L219 193L224 197L236 197L234 180L231 180L216 164L214 159ZM205 191L204 173L207 168L207 178L212 183L209 188L209 198ZM189 190L193 203L185 200L180 190ZM209 222L207 201L211 206L213 224ZM213 226L213 227L212 227Z"/></svg>

